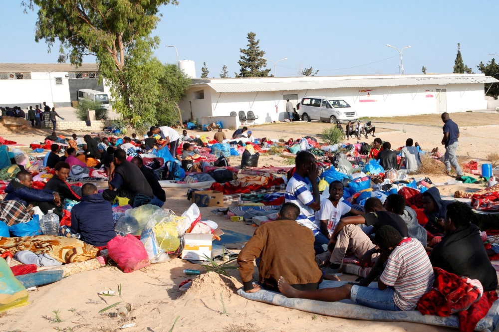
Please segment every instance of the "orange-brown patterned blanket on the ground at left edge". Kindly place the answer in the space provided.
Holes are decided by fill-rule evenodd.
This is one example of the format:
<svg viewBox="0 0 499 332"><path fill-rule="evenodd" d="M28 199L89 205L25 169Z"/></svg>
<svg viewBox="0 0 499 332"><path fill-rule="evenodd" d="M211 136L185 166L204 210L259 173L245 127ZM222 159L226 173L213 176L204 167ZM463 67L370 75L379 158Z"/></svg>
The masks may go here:
<svg viewBox="0 0 499 332"><path fill-rule="evenodd" d="M0 253L29 250L48 254L61 263L82 262L97 256L98 249L83 241L53 235L0 237Z"/></svg>

